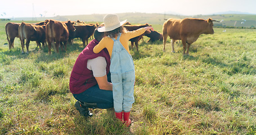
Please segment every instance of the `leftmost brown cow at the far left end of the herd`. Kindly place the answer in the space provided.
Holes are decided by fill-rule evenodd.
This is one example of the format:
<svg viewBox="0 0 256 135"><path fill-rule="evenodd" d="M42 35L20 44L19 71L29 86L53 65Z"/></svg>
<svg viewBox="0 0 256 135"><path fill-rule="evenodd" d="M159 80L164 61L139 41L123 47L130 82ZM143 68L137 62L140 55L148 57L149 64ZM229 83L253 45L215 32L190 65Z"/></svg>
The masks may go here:
<svg viewBox="0 0 256 135"><path fill-rule="evenodd" d="M19 25L20 23L8 22L5 25L6 37L9 44L9 50L14 48L14 39L19 38Z"/></svg>

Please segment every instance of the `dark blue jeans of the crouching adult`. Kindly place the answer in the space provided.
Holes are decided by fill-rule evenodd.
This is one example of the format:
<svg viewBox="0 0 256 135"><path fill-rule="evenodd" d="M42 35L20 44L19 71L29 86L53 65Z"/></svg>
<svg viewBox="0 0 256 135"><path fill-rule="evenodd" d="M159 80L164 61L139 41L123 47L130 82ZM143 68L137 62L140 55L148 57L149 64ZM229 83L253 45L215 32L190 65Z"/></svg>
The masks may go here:
<svg viewBox="0 0 256 135"><path fill-rule="evenodd" d="M110 74L107 75L110 80ZM111 82L111 81L109 81ZM99 109L109 109L114 107L113 91L100 89L98 84L80 94L73 94L80 102L96 103Z"/></svg>

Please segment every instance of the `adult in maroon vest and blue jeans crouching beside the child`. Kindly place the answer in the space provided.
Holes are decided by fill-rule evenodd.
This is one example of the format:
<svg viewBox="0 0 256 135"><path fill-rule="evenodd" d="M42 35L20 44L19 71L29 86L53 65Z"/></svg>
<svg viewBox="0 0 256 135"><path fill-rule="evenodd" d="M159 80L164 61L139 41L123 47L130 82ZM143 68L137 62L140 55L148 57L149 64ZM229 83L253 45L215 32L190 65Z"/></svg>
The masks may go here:
<svg viewBox="0 0 256 135"><path fill-rule="evenodd" d="M75 107L83 116L92 116L88 108L114 107L112 83L110 83L110 56L106 49L93 53L93 48L104 37L95 29L93 39L79 54L70 75L70 92L78 101Z"/></svg>

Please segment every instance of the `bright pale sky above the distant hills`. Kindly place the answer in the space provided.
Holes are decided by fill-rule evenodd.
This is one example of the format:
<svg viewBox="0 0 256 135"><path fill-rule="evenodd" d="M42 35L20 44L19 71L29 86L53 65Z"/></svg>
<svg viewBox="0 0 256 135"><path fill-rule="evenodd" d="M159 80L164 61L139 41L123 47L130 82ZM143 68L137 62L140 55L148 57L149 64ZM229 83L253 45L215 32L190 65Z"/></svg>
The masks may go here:
<svg viewBox="0 0 256 135"><path fill-rule="evenodd" d="M217 12L238 11L256 14L255 5L255 0L1 0L0 18L124 12L212 15Z"/></svg>

